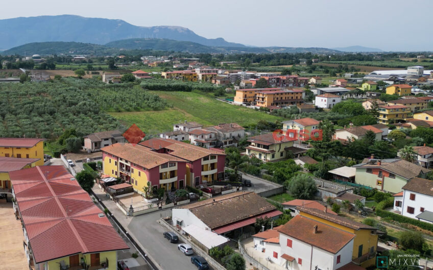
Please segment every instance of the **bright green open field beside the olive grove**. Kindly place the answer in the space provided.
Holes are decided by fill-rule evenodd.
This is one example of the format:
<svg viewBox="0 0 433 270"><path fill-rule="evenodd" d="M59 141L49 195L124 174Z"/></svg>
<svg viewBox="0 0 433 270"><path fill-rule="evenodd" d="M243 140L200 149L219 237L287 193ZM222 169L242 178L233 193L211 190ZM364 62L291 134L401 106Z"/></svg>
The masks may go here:
<svg viewBox="0 0 433 270"><path fill-rule="evenodd" d="M167 100L173 107L162 111L109 113L123 124L136 124L147 134L173 130L173 124L196 121L204 126L235 122L242 126L256 124L259 120L275 122L281 118L242 106L216 100L213 95L199 91L166 92L149 91Z"/></svg>

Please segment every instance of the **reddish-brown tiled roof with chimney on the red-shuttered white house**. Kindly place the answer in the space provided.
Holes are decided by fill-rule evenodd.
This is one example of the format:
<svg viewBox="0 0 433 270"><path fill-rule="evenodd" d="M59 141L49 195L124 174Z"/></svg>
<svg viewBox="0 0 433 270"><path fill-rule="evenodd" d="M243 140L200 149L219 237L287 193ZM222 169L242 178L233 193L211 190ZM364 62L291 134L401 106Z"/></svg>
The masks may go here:
<svg viewBox="0 0 433 270"><path fill-rule="evenodd" d="M315 225L318 226L317 233L314 233ZM278 231L333 254L338 253L355 237L354 234L301 217L301 215L291 219Z"/></svg>

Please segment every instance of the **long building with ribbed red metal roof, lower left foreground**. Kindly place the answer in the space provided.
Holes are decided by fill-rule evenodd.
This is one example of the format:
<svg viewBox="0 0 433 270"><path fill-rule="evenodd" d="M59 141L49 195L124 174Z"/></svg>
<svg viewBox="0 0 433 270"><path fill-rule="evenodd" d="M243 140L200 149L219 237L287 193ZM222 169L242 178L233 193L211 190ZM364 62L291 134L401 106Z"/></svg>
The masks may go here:
<svg viewBox="0 0 433 270"><path fill-rule="evenodd" d="M117 269L117 251L128 245L63 166L9 175L31 269Z"/></svg>

